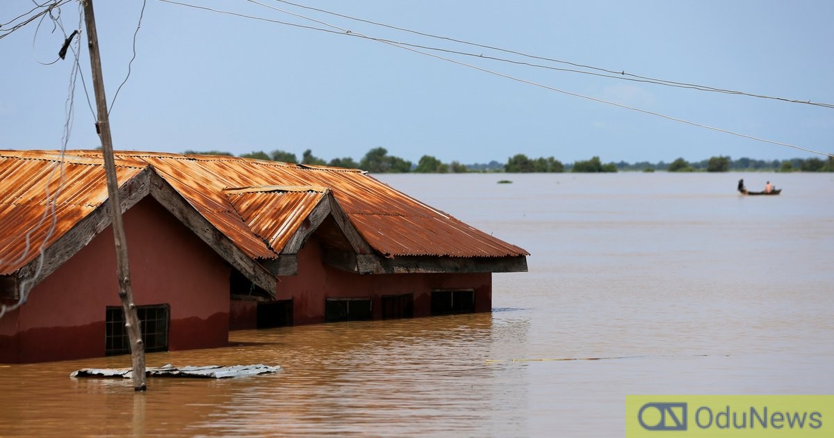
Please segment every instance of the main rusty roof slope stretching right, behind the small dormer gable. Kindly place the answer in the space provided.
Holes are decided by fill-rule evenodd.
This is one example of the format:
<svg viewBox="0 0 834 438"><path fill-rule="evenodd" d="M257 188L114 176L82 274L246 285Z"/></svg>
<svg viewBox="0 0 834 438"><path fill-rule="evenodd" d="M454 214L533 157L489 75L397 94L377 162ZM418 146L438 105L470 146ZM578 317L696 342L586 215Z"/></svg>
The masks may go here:
<svg viewBox="0 0 834 438"><path fill-rule="evenodd" d="M528 255L513 244L466 225L354 169L302 166L223 156L125 154L144 159L163 174L197 179L187 185L224 188L258 185L319 186L330 189L359 234L381 254L452 257ZM183 176L178 176L183 178ZM191 199L192 194L183 194ZM205 194L212 196L212 194ZM280 251L280 247L274 250Z"/></svg>

